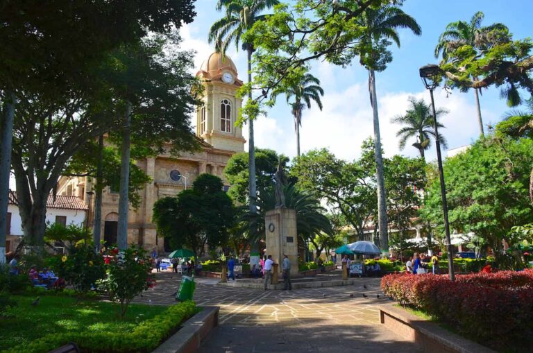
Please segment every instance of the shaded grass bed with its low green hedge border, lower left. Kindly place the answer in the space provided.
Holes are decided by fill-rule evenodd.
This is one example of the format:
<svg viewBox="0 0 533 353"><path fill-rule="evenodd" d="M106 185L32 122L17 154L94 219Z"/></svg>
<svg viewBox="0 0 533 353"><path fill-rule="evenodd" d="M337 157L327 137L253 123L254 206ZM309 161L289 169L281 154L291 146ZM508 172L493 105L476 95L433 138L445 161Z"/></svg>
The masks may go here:
<svg viewBox="0 0 533 353"><path fill-rule="evenodd" d="M82 352L151 352L196 312L194 302L171 307L130 304L119 320L111 303L63 295L13 295L17 307L0 320L0 352L49 352L69 342Z"/></svg>

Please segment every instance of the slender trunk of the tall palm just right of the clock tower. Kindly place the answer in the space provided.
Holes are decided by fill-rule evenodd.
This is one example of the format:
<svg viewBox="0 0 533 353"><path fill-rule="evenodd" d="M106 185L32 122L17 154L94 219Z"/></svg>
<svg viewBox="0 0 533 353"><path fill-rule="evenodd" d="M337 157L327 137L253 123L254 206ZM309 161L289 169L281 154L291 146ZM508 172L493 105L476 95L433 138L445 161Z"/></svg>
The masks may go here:
<svg viewBox="0 0 533 353"><path fill-rule="evenodd" d="M248 83L252 82L252 48L248 46ZM248 99L252 99L252 92L248 92ZM255 183L255 142L253 139L253 117L248 119L248 204L251 214L257 214L257 187ZM255 221L251 221L250 235L255 233ZM250 266L259 265L259 239L250 243Z"/></svg>

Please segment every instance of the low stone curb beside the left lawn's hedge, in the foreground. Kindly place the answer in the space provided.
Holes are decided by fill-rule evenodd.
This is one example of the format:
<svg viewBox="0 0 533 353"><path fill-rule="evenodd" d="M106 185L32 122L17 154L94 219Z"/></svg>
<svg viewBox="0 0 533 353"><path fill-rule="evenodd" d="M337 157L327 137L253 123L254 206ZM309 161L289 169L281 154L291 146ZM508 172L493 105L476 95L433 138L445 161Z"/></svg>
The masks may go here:
<svg viewBox="0 0 533 353"><path fill-rule="evenodd" d="M176 334L170 336L152 353L193 353L209 332L219 325L219 307L203 307L189 320L183 323Z"/></svg>

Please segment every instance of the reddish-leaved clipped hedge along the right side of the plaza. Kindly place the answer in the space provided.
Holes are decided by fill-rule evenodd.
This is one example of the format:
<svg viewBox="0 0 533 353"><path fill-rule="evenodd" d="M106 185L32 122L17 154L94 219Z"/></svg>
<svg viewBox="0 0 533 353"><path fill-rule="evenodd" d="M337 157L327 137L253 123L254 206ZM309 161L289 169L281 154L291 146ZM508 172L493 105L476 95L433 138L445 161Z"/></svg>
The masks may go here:
<svg viewBox="0 0 533 353"><path fill-rule="evenodd" d="M383 277L381 288L480 343L504 348L532 339L533 270L457 275L455 282L400 273Z"/></svg>

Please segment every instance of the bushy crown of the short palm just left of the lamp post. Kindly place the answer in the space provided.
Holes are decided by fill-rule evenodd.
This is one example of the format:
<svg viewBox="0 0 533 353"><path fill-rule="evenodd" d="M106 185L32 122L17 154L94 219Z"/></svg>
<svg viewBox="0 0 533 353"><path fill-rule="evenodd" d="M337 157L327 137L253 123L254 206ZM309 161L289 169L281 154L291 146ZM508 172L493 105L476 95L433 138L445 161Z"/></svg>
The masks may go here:
<svg viewBox="0 0 533 353"><path fill-rule="evenodd" d="M430 139L435 137L435 130L433 128L433 114L430 105L425 104L423 99L417 100L414 97L409 97L411 108L405 112L405 115L399 115L391 119L392 123L399 123L404 125L403 128L396 132L396 137L400 137L400 150L405 148L407 140L416 137L416 142L412 144L420 152L420 156L425 158L424 151L430 149ZM437 118L443 114L447 114L448 110L439 108L437 110ZM444 128L442 123L437 121L439 128ZM439 133L439 139L444 148L448 148L446 138Z"/></svg>

